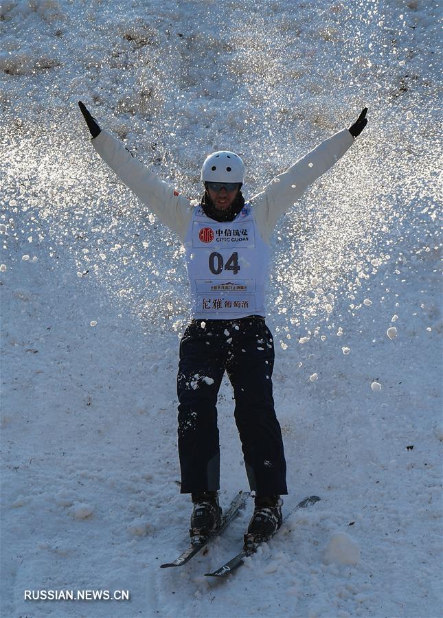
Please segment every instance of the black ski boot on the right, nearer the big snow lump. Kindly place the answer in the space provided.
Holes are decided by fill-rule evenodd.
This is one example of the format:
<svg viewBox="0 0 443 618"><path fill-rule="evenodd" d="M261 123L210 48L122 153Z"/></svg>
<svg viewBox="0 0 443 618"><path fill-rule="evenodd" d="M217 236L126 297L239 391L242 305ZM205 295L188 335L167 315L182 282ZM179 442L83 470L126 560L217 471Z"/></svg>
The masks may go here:
<svg viewBox="0 0 443 618"><path fill-rule="evenodd" d="M280 496L258 496L254 512L245 534L245 549L251 550L257 543L269 539L282 525L282 504Z"/></svg>

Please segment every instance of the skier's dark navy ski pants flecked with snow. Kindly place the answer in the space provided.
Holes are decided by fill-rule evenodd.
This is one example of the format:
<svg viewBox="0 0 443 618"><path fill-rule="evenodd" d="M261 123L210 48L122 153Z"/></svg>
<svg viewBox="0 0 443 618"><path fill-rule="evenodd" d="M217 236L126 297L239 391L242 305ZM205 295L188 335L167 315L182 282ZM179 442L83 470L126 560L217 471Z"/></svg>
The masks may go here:
<svg viewBox="0 0 443 618"><path fill-rule="evenodd" d="M258 496L287 494L273 364L273 337L264 318L192 320L181 339L177 378L181 493L220 488L216 404L227 371L249 486Z"/></svg>

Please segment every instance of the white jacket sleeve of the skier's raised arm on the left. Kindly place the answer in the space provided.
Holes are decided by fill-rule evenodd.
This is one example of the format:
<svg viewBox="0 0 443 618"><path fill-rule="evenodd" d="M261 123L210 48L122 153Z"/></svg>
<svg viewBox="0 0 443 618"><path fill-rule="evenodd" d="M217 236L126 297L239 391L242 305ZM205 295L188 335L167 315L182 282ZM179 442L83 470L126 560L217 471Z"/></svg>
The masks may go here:
<svg viewBox="0 0 443 618"><path fill-rule="evenodd" d="M173 187L137 161L122 142L107 131L100 131L92 144L120 180L183 240L192 214L188 198L174 192Z"/></svg>

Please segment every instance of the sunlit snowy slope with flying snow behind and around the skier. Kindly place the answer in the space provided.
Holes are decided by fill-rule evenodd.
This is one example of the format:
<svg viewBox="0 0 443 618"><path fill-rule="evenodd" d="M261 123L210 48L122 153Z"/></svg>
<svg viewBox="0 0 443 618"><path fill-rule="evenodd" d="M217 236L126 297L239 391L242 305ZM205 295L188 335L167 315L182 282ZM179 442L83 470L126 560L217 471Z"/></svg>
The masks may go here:
<svg viewBox="0 0 443 618"><path fill-rule="evenodd" d="M437 14L394 0L1 3L4 615L440 615ZM370 109L272 241L285 504L321 502L221 585L203 573L237 549L252 505L205 556L158 568L190 514L181 247L95 155L79 99L190 196L207 152L239 152L251 195ZM246 488L227 381L218 408L227 505ZM24 599L78 589L131 599Z"/></svg>

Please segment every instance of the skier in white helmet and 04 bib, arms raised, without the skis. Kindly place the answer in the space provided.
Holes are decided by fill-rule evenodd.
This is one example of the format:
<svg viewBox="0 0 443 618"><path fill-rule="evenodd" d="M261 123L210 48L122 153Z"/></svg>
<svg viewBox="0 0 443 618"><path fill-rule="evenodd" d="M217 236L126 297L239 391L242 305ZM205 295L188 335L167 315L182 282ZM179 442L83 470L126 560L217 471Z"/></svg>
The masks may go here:
<svg viewBox="0 0 443 618"><path fill-rule="evenodd" d="M269 240L282 217L315 179L350 148L367 124L364 108L349 129L322 141L245 202L245 168L234 152L203 162L204 194L192 205L80 110L100 157L185 247L192 320L180 343L177 395L181 493L194 505L190 535L198 544L220 526L217 394L227 371L236 425L255 505L248 535L269 538L282 524L286 462L273 402L273 336L265 323Z"/></svg>

